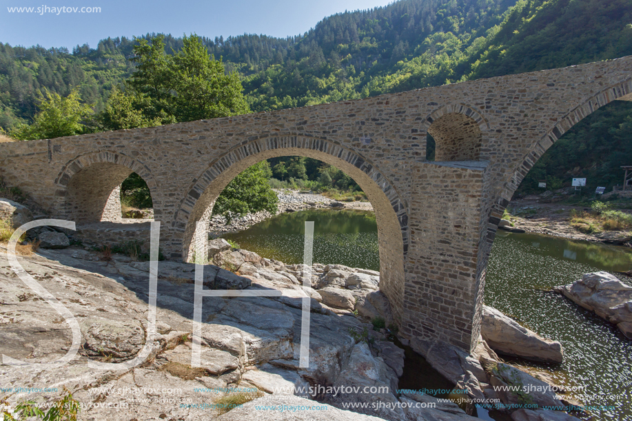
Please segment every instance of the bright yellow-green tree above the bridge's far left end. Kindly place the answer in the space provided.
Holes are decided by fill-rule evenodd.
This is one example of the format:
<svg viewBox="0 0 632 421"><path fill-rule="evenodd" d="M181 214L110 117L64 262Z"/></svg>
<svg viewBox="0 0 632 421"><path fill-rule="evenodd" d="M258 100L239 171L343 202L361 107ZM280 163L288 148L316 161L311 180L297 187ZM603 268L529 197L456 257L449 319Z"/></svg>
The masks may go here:
<svg viewBox="0 0 632 421"><path fill-rule="evenodd" d="M65 98L45 90L38 107L32 125L17 125L10 132L12 137L29 141L83 134L88 131L86 119L94 113L91 105L81 103L77 88Z"/></svg>

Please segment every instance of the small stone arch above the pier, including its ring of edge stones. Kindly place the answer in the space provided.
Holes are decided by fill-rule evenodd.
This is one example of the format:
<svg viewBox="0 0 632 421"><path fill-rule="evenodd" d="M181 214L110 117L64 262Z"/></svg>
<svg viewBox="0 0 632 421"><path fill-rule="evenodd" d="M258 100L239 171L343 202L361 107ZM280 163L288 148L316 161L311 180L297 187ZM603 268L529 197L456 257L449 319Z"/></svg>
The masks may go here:
<svg viewBox="0 0 632 421"><path fill-rule="evenodd" d="M489 123L464 104L446 105L424 120L423 129L436 143L435 161L478 161L482 133Z"/></svg>

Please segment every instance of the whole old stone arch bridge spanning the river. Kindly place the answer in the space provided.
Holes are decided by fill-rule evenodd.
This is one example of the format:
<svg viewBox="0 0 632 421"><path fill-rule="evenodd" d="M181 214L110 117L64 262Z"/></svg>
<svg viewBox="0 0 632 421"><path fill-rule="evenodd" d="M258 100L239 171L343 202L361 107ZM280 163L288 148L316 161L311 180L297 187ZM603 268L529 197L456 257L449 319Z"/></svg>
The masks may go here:
<svg viewBox="0 0 632 421"><path fill-rule="evenodd" d="M404 336L470 350L485 269L514 190L584 116L632 101L632 56L555 70L136 130L0 145L0 171L53 218L111 217L117 186L142 176L168 257L190 256L196 221L249 165L317 158L376 211L380 289ZM426 160L426 137L436 160ZM114 193L113 193L114 192ZM116 219L116 218L114 218Z"/></svg>

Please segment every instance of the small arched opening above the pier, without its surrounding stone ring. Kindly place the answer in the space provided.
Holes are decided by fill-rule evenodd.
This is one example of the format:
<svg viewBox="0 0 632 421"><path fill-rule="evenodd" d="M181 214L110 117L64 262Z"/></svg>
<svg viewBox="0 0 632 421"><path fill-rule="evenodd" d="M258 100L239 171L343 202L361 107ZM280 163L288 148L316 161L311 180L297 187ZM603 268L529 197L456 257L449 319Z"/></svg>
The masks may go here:
<svg viewBox="0 0 632 421"><path fill-rule="evenodd" d="M480 127L470 116L457 112L444 114L430 124L428 134L435 143L432 161L478 161L480 158ZM427 151L429 149L427 147Z"/></svg>

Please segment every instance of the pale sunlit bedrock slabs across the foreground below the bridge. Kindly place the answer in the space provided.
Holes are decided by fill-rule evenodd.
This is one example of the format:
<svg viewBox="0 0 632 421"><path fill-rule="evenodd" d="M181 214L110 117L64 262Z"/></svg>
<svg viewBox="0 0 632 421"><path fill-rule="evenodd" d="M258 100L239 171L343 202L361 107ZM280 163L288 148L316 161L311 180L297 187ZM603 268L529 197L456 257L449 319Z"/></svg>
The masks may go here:
<svg viewBox="0 0 632 421"><path fill-rule="evenodd" d="M404 352L389 341L387 329L376 331L369 322L391 322L378 272L314 265L312 287L303 287L303 265L231 249L221 240L212 243L210 254L236 274L206 265L206 288L281 296L204 298L201 368L192 367L194 265L160 262L154 345L135 367L101 369L90 363L130 362L145 346L149 263L76 247L21 257L28 274L74 315L81 347L63 367L1 365L2 395L10 404L43 404L59 399L66 387L81 404L80 419L94 421L476 419L453 402L398 393ZM61 358L72 343L67 322L14 274L4 253L0 263L0 353L31 363ZM300 368L305 294L311 297L310 359L308 368ZM410 345L467 397L501 403L514 420L573 419L562 411L516 411L527 402L524 393L494 386L519 382L533 386L528 402L564 402L549 384L500 362L484 340L473 356L442 342ZM221 405L250 399L220 415ZM356 404L354 412L345 410L349 403Z"/></svg>

